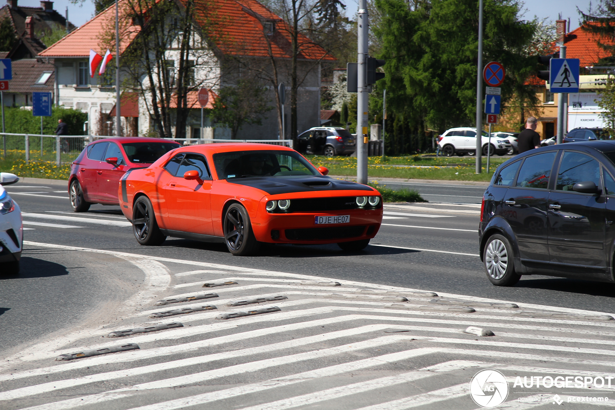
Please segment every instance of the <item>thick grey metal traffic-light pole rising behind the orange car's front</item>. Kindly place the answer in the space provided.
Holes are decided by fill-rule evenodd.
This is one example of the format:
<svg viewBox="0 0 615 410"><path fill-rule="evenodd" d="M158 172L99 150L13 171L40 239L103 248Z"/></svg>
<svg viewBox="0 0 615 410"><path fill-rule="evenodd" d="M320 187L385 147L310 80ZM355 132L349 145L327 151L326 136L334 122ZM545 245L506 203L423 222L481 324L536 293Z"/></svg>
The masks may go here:
<svg viewBox="0 0 615 410"><path fill-rule="evenodd" d="M368 14L367 0L359 0L357 47L357 182L367 184L367 108L369 89L367 85Z"/></svg>

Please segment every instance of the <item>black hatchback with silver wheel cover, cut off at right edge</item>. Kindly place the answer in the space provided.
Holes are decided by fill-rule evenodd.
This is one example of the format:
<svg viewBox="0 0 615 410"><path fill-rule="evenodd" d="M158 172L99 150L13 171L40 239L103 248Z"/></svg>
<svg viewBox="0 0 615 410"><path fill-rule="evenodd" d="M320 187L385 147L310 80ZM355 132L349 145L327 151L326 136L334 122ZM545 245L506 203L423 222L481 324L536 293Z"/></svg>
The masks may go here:
<svg viewBox="0 0 615 410"><path fill-rule="evenodd" d="M498 167L478 237L487 278L522 275L615 282L615 141L552 145Z"/></svg>

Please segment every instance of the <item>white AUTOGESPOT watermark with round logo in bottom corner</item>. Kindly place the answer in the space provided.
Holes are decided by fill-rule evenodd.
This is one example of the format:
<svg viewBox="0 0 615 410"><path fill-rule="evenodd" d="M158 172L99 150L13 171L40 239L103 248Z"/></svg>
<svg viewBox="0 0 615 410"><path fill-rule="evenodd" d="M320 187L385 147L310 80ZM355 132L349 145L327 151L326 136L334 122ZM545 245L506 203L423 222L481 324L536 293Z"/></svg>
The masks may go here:
<svg viewBox="0 0 615 410"><path fill-rule="evenodd" d="M509 377L512 380L512 377ZM613 403L607 396L593 393L592 396L563 395L559 388L597 388L607 390L615 388L615 376L516 376L512 387L506 376L496 369L483 369L470 381L470 396L474 403L482 408L492 409L506 401L509 393L520 395L516 400L520 403L538 403L550 401L553 404L563 403ZM613 384L613 386L611 386ZM525 389L549 389L550 391L530 392ZM524 391L525 390L525 391ZM558 394L559 393L559 394ZM594 396L597 395L597 396Z"/></svg>

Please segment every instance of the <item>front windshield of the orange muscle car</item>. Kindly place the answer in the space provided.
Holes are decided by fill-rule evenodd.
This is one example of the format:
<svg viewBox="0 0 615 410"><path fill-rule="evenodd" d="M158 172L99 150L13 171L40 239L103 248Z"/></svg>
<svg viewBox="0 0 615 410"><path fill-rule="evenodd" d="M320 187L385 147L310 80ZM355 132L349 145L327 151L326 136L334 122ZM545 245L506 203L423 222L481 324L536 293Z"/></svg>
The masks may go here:
<svg viewBox="0 0 615 410"><path fill-rule="evenodd" d="M234 151L213 154L218 178L321 175L296 151Z"/></svg>

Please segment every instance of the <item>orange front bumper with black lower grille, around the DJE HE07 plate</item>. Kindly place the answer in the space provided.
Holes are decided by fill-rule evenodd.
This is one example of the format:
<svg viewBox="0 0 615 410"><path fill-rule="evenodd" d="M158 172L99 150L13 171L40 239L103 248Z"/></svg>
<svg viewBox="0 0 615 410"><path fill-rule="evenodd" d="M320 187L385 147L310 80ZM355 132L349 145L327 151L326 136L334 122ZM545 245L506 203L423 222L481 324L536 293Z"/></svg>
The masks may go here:
<svg viewBox="0 0 615 410"><path fill-rule="evenodd" d="M315 216L350 215L349 223L315 224ZM382 209L312 213L269 213L252 223L256 240L269 243L320 244L371 239L378 234Z"/></svg>

